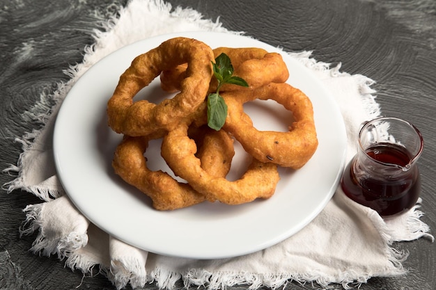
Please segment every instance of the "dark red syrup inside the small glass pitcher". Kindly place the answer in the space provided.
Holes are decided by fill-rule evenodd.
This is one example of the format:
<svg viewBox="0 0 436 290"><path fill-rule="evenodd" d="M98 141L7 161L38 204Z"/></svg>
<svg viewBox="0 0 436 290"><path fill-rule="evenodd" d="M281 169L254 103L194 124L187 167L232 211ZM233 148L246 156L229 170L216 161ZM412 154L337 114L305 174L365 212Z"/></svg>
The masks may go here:
<svg viewBox="0 0 436 290"><path fill-rule="evenodd" d="M391 165L407 166L410 163L410 154L404 147L389 143L380 143L366 150L366 154L376 161ZM367 161L374 162L368 157ZM407 211L414 206L419 198L421 182L418 166L390 177L384 176L380 170L374 170L370 177L357 181L355 177L356 159L353 159L345 168L341 187L345 195L355 202L371 207L380 216L392 216ZM382 165L380 165L381 167Z"/></svg>

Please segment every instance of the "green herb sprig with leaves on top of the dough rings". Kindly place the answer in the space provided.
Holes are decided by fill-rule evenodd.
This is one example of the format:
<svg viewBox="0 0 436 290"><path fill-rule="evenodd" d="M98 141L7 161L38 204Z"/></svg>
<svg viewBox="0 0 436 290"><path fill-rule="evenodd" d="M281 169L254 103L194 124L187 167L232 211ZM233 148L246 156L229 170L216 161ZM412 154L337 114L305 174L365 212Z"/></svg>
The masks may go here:
<svg viewBox="0 0 436 290"><path fill-rule="evenodd" d="M227 117L227 105L223 97L219 95L219 89L224 83L248 87L247 81L239 76L233 76L233 65L227 54L220 54L215 58L213 65L213 74L217 78L217 92L208 95L208 126L212 129L219 130L224 126Z"/></svg>

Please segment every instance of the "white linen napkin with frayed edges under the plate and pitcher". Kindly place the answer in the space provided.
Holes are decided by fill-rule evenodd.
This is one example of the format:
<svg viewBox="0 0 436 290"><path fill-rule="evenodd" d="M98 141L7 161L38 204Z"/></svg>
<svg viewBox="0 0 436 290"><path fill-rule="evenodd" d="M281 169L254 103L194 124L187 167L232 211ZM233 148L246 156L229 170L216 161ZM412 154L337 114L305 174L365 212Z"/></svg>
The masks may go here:
<svg viewBox="0 0 436 290"><path fill-rule="evenodd" d="M132 0L120 8L119 17L109 19L106 32L95 32L95 45L86 49L84 61L68 70L68 83L61 83L52 95L28 112L38 120L47 120L44 129L22 138L23 152L17 166L4 171L17 172L6 184L8 191L22 189L37 195L40 204L24 211L26 220L20 231L38 237L31 251L57 255L72 269L84 275L99 267L121 289L155 282L171 289L178 280L185 286L205 285L220 289L236 284L276 288L289 280L317 282L321 287L339 283L366 282L371 277L391 277L407 273L402 261L406 252L392 248L395 241L411 241L427 236L430 229L419 220L419 204L409 212L385 222L375 211L363 207L336 191L325 209L294 236L251 255L228 259L196 260L155 255L127 245L95 227L72 205L56 177L52 157L54 117L68 90L93 64L107 54L137 40L177 31L227 31L221 24L203 19L192 9L176 8L159 0ZM361 75L340 72L340 67L311 58L310 51L291 53L309 67L331 90L341 108L348 134L348 160L355 154L359 125L380 114L371 89L373 81ZM49 107L47 100L57 105ZM47 115L47 111L50 113ZM421 200L419 200L421 202ZM229 237L231 239L231 237ZM364 255L362 255L364 253Z"/></svg>

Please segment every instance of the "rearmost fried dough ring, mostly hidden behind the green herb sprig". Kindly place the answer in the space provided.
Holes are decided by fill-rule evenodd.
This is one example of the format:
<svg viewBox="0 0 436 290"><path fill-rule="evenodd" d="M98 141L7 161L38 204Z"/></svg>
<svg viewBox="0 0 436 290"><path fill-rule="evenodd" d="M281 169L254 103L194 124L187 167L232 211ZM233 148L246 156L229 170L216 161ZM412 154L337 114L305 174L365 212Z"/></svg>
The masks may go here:
<svg viewBox="0 0 436 290"><path fill-rule="evenodd" d="M249 88L257 88L267 83L284 83L288 77L288 67L283 62L281 54L269 53L265 49L256 47L231 48L218 47L213 49L215 58L219 54L227 54L231 59L235 76L240 76L247 81ZM172 70L165 70L160 74L161 88L166 92L181 90L180 83L185 79L186 64L178 65ZM217 80L210 81L209 92L217 90ZM240 90L241 87L224 84L220 91Z"/></svg>

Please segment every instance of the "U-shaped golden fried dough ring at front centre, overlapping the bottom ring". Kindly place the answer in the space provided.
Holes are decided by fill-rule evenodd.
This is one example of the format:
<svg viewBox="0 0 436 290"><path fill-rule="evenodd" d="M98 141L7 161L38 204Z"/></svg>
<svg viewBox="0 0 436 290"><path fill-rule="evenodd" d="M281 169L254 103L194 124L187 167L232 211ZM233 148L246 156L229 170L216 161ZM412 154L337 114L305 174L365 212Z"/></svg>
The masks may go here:
<svg viewBox="0 0 436 290"><path fill-rule="evenodd" d="M196 191L209 200L216 199L225 204L267 199L274 194L280 179L275 164L253 159L247 172L235 181L210 175L201 168L201 160L195 156L196 144L187 136L187 130L188 125L180 123L166 134L162 140L161 154L173 172L187 180Z"/></svg>

